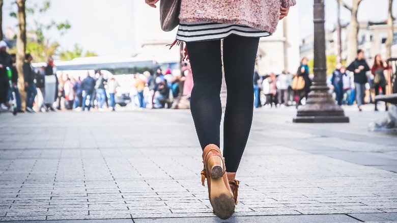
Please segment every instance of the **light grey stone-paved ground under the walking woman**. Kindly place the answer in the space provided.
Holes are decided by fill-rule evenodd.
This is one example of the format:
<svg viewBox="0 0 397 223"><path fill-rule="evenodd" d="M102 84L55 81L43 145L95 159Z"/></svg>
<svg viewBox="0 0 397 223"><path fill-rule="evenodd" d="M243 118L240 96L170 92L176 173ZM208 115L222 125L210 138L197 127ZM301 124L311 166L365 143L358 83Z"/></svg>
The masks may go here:
<svg viewBox="0 0 397 223"><path fill-rule="evenodd" d="M397 132L257 109L239 205L212 214L188 110L0 115L0 221L397 222ZM73 221L72 221L73 220Z"/></svg>

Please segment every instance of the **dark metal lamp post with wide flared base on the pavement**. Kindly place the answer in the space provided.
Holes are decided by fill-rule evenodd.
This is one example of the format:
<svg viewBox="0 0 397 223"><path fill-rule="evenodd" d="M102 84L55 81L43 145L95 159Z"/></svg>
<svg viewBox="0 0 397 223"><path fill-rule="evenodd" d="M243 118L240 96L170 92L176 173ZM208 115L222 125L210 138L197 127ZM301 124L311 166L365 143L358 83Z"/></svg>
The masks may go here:
<svg viewBox="0 0 397 223"><path fill-rule="evenodd" d="M335 104L327 86L324 0L314 0L314 79L306 104L298 108L295 123L347 123L344 110Z"/></svg>

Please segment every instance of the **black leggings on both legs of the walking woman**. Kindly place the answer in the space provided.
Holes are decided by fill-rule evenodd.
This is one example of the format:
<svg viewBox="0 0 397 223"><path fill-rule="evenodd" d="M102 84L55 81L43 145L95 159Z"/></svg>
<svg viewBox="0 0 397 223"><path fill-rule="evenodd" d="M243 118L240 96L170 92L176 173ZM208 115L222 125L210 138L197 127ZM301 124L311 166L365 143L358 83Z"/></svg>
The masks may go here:
<svg viewBox="0 0 397 223"><path fill-rule="evenodd" d="M223 63L228 99L223 125L226 171L240 164L253 113L253 70L259 38L229 36L223 41ZM220 40L186 43L193 73L191 113L202 149L220 146L222 61Z"/></svg>

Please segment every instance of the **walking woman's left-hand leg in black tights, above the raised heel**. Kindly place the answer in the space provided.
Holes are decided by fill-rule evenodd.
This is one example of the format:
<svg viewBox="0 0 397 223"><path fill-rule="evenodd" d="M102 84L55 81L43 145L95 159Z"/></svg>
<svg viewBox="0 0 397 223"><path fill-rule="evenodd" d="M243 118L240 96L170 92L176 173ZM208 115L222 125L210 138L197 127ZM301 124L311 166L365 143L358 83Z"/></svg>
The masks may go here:
<svg viewBox="0 0 397 223"><path fill-rule="evenodd" d="M220 40L187 42L193 72L193 90L190 109L202 149L209 144L220 146L220 120L222 107L222 61ZM252 71L253 75L253 71ZM251 78L251 86L252 86ZM250 94L252 94L251 89ZM251 103L252 106L253 102Z"/></svg>

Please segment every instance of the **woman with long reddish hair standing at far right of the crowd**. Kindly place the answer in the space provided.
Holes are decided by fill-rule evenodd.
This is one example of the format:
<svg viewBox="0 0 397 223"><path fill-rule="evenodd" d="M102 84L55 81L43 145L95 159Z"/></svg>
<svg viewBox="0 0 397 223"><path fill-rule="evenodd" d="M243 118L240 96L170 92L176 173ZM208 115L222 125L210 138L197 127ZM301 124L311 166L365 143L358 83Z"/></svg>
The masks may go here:
<svg viewBox="0 0 397 223"><path fill-rule="evenodd" d="M390 69L389 65L382 61L381 55L377 54L375 56L374 65L372 66L371 72L374 75L374 88L375 96L379 95L379 89L382 89L382 93L386 94L387 81L384 75L384 71ZM386 103L386 110L387 110ZM375 100L375 111L378 111L378 101Z"/></svg>

